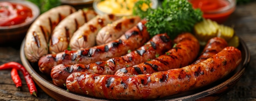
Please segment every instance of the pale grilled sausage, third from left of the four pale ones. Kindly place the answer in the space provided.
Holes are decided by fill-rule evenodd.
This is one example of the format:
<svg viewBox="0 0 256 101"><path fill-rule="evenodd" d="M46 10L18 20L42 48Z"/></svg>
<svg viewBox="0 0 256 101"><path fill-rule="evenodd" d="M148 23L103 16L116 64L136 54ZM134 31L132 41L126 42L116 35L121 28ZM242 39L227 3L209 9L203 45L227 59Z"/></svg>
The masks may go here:
<svg viewBox="0 0 256 101"><path fill-rule="evenodd" d="M98 31L117 19L119 19L119 17L112 14L97 15L74 32L70 39L70 48L72 50L78 50L94 46L96 44L95 39Z"/></svg>

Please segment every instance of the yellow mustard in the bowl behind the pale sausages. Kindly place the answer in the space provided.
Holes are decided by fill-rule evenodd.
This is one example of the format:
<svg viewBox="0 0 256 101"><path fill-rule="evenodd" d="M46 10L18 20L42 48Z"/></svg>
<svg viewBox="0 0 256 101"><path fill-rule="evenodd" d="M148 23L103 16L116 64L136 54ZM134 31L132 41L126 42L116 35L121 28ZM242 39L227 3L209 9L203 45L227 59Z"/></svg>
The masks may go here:
<svg viewBox="0 0 256 101"><path fill-rule="evenodd" d="M139 0L102 0L97 4L100 11L117 15L132 15L132 8ZM148 9L148 5L143 4L142 9Z"/></svg>

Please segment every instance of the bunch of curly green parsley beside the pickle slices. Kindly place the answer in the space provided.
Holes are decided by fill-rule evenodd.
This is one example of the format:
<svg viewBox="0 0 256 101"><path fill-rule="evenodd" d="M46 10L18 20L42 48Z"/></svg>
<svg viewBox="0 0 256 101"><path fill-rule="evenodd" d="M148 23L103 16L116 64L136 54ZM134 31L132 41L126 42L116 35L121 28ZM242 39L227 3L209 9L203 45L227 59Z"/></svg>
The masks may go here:
<svg viewBox="0 0 256 101"><path fill-rule="evenodd" d="M164 0L156 9L141 10L140 5L150 4L148 2L150 0L136 2L133 14L148 20L145 25L151 37L166 32L174 39L182 32L192 32L195 23L203 19L202 11L193 9L188 0Z"/></svg>

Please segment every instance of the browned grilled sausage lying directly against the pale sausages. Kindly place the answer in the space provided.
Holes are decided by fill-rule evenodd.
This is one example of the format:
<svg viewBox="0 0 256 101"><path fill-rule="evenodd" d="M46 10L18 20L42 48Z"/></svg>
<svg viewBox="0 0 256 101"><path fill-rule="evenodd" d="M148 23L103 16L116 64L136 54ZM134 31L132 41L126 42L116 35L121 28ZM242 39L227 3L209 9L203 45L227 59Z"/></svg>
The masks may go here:
<svg viewBox="0 0 256 101"><path fill-rule="evenodd" d="M146 20L142 20L119 39L107 44L77 51L66 50L58 54L47 54L38 61L39 70L50 75L52 67L57 64L89 64L125 55L129 49L135 50L150 39L145 23Z"/></svg>

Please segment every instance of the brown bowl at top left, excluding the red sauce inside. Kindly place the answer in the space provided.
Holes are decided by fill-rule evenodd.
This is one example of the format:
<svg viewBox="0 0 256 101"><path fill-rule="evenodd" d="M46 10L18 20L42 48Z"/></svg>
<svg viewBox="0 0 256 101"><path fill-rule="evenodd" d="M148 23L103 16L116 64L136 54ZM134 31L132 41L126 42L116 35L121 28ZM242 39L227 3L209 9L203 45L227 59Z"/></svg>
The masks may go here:
<svg viewBox="0 0 256 101"><path fill-rule="evenodd" d="M40 15L40 10L35 4L25 0L3 0L2 2L10 2L11 4L20 4L27 6L32 11L32 17L20 24L14 24L10 26L0 26L0 45L6 43L16 43L24 39L27 30L29 29L32 22Z"/></svg>

